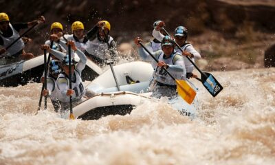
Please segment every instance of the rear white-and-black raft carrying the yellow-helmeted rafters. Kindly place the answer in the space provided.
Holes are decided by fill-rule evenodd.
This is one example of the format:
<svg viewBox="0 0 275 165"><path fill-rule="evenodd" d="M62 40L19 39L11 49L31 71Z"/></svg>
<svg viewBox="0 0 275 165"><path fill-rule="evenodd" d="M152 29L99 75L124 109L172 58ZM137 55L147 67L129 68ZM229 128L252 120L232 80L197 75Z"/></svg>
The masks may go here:
<svg viewBox="0 0 275 165"><path fill-rule="evenodd" d="M76 55L76 61L79 61ZM0 86L16 87L29 82L40 83L44 72L44 55L36 56L28 61L20 61L9 65L0 66ZM102 74L102 69L93 61L87 59L87 64L82 72L83 80L94 80Z"/></svg>

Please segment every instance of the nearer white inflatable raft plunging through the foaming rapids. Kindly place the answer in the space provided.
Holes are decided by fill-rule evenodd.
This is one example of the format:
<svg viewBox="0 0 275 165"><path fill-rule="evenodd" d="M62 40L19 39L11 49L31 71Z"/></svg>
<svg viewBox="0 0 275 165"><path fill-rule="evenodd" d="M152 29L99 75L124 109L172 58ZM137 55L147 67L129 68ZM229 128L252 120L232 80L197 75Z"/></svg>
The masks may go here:
<svg viewBox="0 0 275 165"><path fill-rule="evenodd" d="M149 85L153 80L153 68L150 64L140 61L124 63L114 66L113 71L119 88L111 69L98 76L87 85L87 90L96 94L73 108L75 118L98 120L107 115L126 115L138 105L151 100ZM192 87L197 89L194 85ZM169 100L169 104L182 115L195 118L197 98L192 104L188 104L181 97L177 97ZM62 114L62 118L69 118L69 109Z"/></svg>

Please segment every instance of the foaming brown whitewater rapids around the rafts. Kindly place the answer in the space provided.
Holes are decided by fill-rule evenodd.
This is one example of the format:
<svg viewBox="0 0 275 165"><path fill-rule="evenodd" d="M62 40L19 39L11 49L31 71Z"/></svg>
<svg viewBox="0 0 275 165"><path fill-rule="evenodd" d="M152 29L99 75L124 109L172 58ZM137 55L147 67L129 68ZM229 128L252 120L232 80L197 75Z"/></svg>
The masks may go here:
<svg viewBox="0 0 275 165"><path fill-rule="evenodd" d="M41 84L0 87L0 164L275 164L275 68L211 73L224 89L192 81L195 120L166 98L100 120L34 115Z"/></svg>

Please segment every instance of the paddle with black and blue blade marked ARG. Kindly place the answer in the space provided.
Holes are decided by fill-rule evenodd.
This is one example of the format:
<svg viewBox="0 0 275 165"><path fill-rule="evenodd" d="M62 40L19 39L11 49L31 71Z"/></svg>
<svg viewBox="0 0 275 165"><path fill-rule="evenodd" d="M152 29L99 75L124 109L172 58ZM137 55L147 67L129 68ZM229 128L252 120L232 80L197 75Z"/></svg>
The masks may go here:
<svg viewBox="0 0 275 165"><path fill-rule="evenodd" d="M162 30L164 30L164 32L170 36L170 34L168 34L168 32L162 27ZM175 42L176 43L176 42ZM184 50L181 49L181 47L179 46L179 44L177 44L177 47L179 47L179 50L181 50L181 52L184 52ZM208 72L202 72L201 69L199 69L199 67L197 67L197 65L195 65L195 63L188 57L186 56L186 58L188 59L188 61L190 61L190 63L192 63L192 65L194 65L194 67L199 71L199 73L201 74L201 83L203 84L203 86L207 89L207 91L213 96L217 96L219 94L219 92L223 89L223 87L221 86L221 84L216 80L216 78L214 78L214 76ZM196 78L197 80L199 80L198 78Z"/></svg>

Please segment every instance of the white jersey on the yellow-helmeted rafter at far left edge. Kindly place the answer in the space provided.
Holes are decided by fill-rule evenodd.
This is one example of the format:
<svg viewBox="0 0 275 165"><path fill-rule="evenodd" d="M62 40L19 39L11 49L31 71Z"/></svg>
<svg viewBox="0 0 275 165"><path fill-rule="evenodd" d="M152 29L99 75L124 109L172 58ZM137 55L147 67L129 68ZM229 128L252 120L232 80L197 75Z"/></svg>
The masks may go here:
<svg viewBox="0 0 275 165"><path fill-rule="evenodd" d="M6 37L2 36L2 34L0 33L0 36L3 39L3 45L2 45L3 48L8 47L11 43L13 43L15 40L17 40L20 36L19 32L17 32L17 30L15 30L12 27L12 24L9 23L9 25L10 25L10 28L12 29L12 36L6 38ZM3 55L12 56L14 54L17 54L19 51L23 50L23 48L24 48L24 42L22 39L19 39Z"/></svg>

